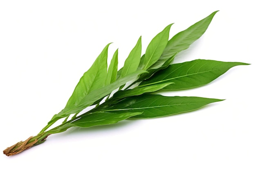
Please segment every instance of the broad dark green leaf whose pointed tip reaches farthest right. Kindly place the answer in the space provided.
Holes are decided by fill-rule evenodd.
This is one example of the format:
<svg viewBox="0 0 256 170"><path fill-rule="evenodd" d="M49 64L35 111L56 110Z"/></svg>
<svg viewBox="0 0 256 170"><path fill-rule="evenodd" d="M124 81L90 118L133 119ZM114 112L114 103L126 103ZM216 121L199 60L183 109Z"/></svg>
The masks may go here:
<svg viewBox="0 0 256 170"><path fill-rule="evenodd" d="M181 90L208 84L230 68L238 65L248 65L241 62L220 62L214 60L193 60L179 64L172 64L168 68L155 73L149 79L141 82L140 86L174 82L166 86L165 90Z"/></svg>

